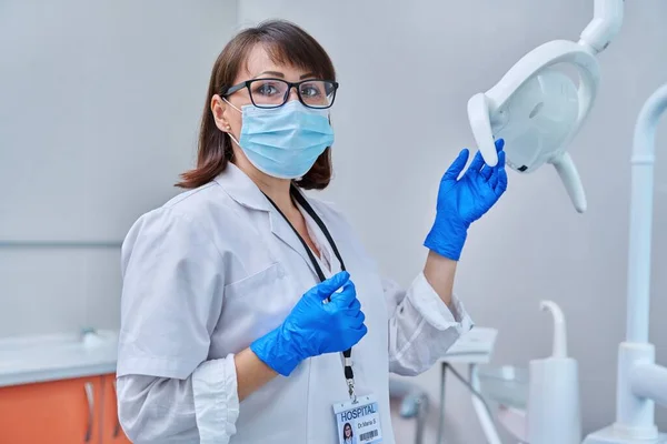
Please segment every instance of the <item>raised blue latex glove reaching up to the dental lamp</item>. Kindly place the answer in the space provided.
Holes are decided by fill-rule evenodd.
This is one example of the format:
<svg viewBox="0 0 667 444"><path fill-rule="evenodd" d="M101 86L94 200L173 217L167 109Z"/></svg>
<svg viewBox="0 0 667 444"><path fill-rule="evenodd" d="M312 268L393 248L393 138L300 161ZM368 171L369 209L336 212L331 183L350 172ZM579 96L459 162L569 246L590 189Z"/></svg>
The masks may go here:
<svg viewBox="0 0 667 444"><path fill-rule="evenodd" d="M488 167L478 151L465 174L458 179L468 162L468 149L461 150L451 163L438 191L436 221L424 245L436 253L458 261L468 228L481 218L507 190L502 139L496 141L498 163Z"/></svg>

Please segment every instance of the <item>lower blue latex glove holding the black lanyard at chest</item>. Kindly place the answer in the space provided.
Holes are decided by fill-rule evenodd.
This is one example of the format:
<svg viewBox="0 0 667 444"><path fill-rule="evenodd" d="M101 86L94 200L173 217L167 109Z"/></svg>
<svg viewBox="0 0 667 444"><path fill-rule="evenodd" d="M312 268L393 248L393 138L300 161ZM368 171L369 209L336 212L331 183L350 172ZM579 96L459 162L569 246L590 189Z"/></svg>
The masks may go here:
<svg viewBox="0 0 667 444"><path fill-rule="evenodd" d="M340 272L306 292L285 322L252 342L250 350L277 373L289 376L305 359L357 344L368 331L365 319L349 273Z"/></svg>

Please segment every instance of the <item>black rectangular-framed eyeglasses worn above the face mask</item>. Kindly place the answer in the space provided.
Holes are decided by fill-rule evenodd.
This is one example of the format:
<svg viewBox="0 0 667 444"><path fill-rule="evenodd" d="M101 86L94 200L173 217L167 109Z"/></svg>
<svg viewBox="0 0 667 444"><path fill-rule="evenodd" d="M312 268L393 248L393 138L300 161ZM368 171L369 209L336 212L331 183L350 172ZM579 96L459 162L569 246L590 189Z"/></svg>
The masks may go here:
<svg viewBox="0 0 667 444"><path fill-rule="evenodd" d="M248 88L250 100L257 108L279 108L287 103L289 92L297 89L299 101L308 108L326 109L334 104L338 83L331 80L301 80L288 82L282 79L252 79L235 84L225 97Z"/></svg>

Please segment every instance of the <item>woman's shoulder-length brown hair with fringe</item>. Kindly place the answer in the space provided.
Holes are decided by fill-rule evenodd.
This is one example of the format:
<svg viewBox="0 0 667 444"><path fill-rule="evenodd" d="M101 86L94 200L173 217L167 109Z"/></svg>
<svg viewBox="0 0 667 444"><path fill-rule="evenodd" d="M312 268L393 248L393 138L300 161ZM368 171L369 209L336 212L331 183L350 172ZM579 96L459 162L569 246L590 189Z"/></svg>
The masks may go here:
<svg viewBox="0 0 667 444"><path fill-rule="evenodd" d="M211 72L199 130L197 167L181 174L177 186L201 186L227 168L233 151L229 134L216 127L210 102L215 94L225 95L239 73L241 63L257 44L265 46L273 63L290 64L313 72L318 78L336 80L336 71L325 49L306 31L285 20L270 20L239 32L220 52ZM303 189L325 189L331 180L331 149L327 148L310 171L295 183Z"/></svg>

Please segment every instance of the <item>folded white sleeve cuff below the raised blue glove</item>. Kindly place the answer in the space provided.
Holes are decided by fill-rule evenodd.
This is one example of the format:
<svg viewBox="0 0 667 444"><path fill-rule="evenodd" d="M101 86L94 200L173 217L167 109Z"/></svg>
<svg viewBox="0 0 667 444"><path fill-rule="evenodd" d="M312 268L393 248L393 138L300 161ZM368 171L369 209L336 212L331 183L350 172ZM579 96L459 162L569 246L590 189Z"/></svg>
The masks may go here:
<svg viewBox="0 0 667 444"><path fill-rule="evenodd" d="M456 294L451 295L450 310L428 283L424 272L419 273L412 281L408 297L426 322L437 330L445 331L454 326L459 333L466 333L474 326L464 303Z"/></svg>

